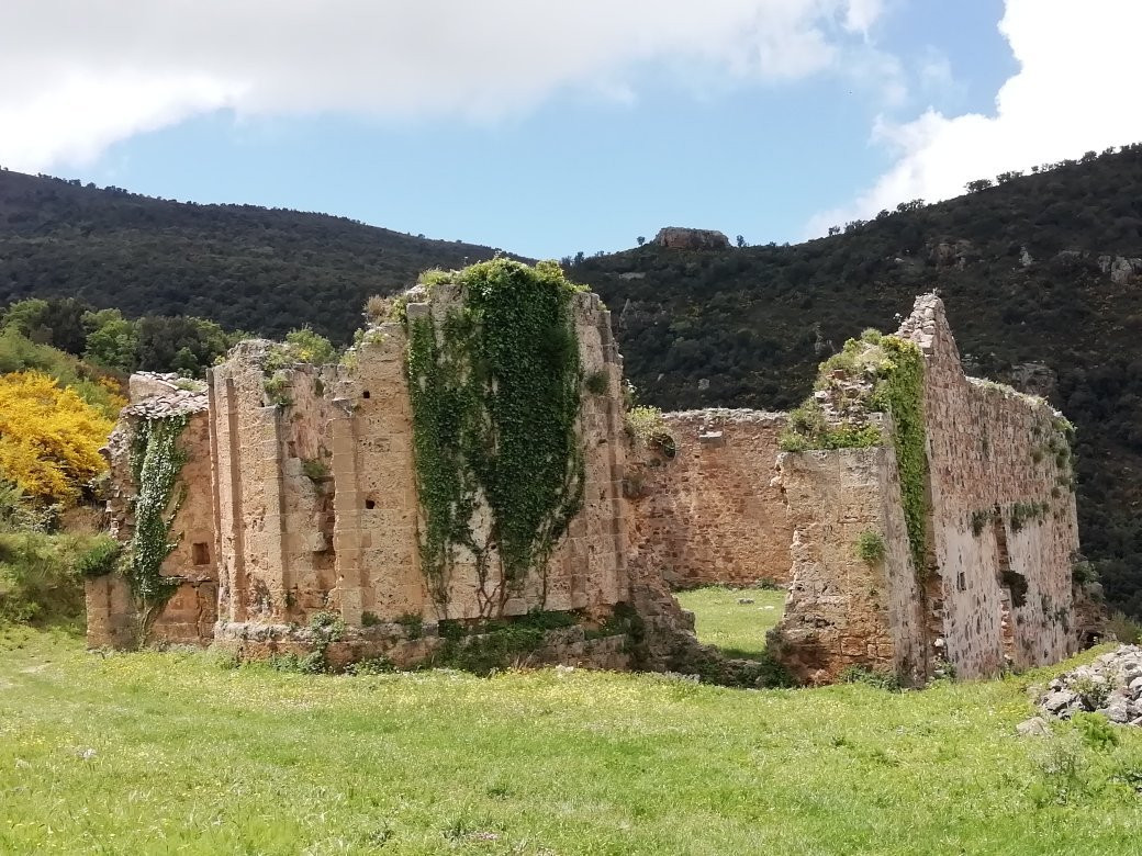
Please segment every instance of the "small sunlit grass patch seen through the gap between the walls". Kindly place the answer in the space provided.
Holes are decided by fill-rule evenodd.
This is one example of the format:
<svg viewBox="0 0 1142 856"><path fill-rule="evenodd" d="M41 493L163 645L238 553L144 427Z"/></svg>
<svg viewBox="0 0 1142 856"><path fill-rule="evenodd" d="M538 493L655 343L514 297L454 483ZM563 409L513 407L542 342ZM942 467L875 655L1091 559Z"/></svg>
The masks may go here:
<svg viewBox="0 0 1142 856"><path fill-rule="evenodd" d="M709 586L678 591L675 597L694 614L694 631L701 641L716 645L729 656L755 659L765 651L765 632L781 621L786 592Z"/></svg>

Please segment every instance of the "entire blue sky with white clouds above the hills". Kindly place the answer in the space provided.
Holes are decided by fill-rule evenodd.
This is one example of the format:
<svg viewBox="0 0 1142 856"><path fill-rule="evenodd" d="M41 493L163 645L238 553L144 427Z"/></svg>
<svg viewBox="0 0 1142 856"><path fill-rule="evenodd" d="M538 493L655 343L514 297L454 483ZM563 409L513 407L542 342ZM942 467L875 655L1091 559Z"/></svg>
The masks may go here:
<svg viewBox="0 0 1142 856"><path fill-rule="evenodd" d="M537 258L1142 140L1142 0L5 0L0 164Z"/></svg>

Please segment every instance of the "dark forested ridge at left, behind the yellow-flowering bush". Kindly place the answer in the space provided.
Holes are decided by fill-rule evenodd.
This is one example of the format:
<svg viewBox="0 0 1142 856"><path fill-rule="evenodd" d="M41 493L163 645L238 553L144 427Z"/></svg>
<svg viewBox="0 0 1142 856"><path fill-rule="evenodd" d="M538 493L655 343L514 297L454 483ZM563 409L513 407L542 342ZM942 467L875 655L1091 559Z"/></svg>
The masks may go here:
<svg viewBox="0 0 1142 856"><path fill-rule="evenodd" d="M128 316L196 315L281 337L345 341L370 294L494 251L343 217L199 205L0 171L0 306L73 297Z"/></svg>

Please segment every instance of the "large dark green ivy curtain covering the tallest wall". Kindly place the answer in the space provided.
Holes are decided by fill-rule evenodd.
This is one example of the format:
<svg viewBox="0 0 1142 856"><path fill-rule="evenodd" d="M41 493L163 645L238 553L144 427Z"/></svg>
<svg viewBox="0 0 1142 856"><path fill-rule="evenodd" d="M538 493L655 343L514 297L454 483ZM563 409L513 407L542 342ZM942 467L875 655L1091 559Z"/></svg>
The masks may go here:
<svg viewBox="0 0 1142 856"><path fill-rule="evenodd" d="M429 289L458 289L434 324L409 322L408 373L417 486L424 508L421 560L443 600L456 549L475 557L482 612L502 608L489 591L496 560L508 586L542 573L582 503L577 435L581 369L571 316L579 289L554 263L497 258L434 272ZM486 504L488 527L474 526Z"/></svg>

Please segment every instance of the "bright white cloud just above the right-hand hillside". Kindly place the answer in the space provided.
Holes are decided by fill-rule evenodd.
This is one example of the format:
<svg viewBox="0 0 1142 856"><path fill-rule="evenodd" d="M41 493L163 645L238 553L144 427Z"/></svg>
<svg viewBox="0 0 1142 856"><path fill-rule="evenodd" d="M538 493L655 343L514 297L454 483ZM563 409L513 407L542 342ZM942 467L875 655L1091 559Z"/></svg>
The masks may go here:
<svg viewBox="0 0 1142 856"><path fill-rule="evenodd" d="M976 178L1142 140L1127 47L1142 32L1140 0L1006 0L999 30L1020 70L995 114L930 108L903 124L878 121L872 139L898 153L895 164L852 204L815 216L809 234L903 201L956 196Z"/></svg>

